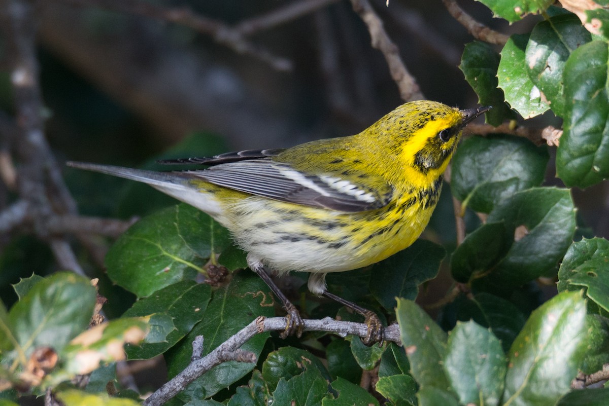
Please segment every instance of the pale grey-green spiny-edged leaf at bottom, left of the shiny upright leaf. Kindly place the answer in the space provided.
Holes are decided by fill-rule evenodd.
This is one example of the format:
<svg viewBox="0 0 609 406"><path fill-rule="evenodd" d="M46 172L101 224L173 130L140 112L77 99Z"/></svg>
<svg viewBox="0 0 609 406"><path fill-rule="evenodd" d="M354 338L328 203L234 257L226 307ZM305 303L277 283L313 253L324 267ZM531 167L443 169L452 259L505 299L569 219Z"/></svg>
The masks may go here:
<svg viewBox="0 0 609 406"><path fill-rule="evenodd" d="M499 404L507 360L488 329L471 321L457 323L448 338L444 370L462 404Z"/></svg>

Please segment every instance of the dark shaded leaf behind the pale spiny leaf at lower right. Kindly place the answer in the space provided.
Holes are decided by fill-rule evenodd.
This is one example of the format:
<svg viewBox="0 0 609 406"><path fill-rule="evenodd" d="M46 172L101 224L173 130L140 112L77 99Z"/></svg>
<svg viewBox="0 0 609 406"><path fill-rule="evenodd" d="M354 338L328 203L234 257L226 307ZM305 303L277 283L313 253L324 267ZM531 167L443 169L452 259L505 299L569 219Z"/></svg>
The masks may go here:
<svg viewBox="0 0 609 406"><path fill-rule="evenodd" d="M524 314L510 301L486 292L460 297L457 300L457 320L474 320L482 327L490 328L501 340L504 351L510 349L526 322Z"/></svg>

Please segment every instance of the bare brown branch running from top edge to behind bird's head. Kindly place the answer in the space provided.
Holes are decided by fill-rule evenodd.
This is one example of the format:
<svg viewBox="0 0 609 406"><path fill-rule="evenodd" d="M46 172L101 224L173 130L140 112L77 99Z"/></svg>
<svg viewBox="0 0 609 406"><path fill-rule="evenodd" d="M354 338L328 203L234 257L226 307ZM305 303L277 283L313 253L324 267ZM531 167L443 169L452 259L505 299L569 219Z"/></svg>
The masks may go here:
<svg viewBox="0 0 609 406"><path fill-rule="evenodd" d="M423 94L415 81L415 78L410 75L408 69L404 65L400 57L398 47L393 44L387 32L382 26L382 20L376 15L375 10L370 5L368 0L351 0L353 10L359 14L365 22L370 32L372 46L382 52L389 65L391 77L398 84L400 89L400 97L404 101L422 100Z"/></svg>

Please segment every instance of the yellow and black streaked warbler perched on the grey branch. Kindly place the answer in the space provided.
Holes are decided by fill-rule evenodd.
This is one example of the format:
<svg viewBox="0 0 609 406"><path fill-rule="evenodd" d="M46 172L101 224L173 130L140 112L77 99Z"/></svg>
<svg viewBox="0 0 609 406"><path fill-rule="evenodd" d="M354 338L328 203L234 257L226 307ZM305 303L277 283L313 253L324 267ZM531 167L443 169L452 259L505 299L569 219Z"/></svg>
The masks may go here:
<svg viewBox="0 0 609 406"><path fill-rule="evenodd" d="M302 320L267 270L311 272L309 290L365 315L368 337L382 340L371 311L326 291L328 272L376 263L410 246L428 224L463 127L490 107L459 111L434 101L401 105L351 137L286 150L250 150L164 163L211 165L152 172L68 162L71 167L144 182L224 225L247 263L286 308L284 336Z"/></svg>

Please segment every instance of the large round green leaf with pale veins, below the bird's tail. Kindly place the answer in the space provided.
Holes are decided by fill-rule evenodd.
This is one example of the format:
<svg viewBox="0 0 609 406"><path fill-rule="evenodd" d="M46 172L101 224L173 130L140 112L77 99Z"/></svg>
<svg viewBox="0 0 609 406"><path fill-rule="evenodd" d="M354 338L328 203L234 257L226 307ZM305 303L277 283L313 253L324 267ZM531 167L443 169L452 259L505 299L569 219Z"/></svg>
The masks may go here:
<svg viewBox="0 0 609 406"><path fill-rule="evenodd" d="M106 256L108 277L138 297L195 277L208 258L230 244L228 231L187 204L146 216Z"/></svg>

